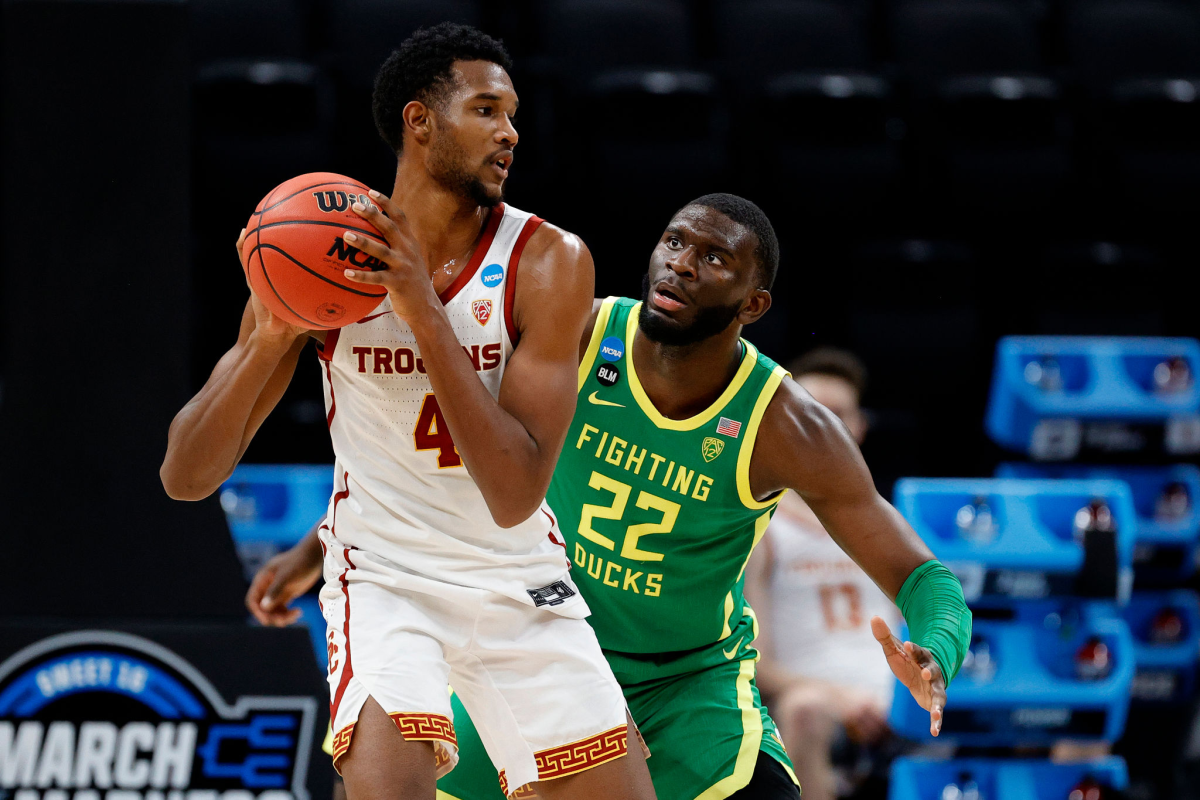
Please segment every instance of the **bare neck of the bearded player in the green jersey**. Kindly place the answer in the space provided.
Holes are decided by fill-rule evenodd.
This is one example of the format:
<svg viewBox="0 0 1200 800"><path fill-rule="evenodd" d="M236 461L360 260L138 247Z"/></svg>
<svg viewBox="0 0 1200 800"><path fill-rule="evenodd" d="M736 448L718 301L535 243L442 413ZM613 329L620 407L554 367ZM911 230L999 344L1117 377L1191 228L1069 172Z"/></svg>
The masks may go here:
<svg viewBox="0 0 1200 800"><path fill-rule="evenodd" d="M742 363L740 332L740 326L731 325L703 342L676 347L654 342L638 329L634 368L659 414L686 420L715 403Z"/></svg>

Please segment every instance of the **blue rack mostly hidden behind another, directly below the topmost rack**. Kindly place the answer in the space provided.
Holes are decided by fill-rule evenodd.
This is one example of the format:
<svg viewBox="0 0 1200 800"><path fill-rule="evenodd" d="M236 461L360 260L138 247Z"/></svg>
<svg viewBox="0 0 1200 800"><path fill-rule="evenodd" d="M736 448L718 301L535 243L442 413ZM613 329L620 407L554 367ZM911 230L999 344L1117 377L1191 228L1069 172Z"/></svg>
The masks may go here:
<svg viewBox="0 0 1200 800"><path fill-rule="evenodd" d="M1098 467L1086 464L1001 464L996 477L1050 477L1124 481L1133 492L1138 534L1133 566L1142 582L1177 583L1195 571L1200 546L1200 469L1193 464L1166 467ZM1187 494L1186 509L1164 503L1169 487Z"/></svg>

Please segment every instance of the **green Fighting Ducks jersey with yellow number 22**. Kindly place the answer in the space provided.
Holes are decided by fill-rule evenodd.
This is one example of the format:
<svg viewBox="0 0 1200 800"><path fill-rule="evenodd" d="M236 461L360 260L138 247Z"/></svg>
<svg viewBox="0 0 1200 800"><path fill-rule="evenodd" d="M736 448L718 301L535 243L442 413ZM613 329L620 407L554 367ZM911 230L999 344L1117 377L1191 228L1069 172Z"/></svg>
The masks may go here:
<svg viewBox="0 0 1200 800"><path fill-rule="evenodd" d="M547 499L600 646L661 654L722 642L743 624L745 565L779 501L751 495L750 456L787 373L743 339L716 402L668 420L634 366L640 306L601 306Z"/></svg>

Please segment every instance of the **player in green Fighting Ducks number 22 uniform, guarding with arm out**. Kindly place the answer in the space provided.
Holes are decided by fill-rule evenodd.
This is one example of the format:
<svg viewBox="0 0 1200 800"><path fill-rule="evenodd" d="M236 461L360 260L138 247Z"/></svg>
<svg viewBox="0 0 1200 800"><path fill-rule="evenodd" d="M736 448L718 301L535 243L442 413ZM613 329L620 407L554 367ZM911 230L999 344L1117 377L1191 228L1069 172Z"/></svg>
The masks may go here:
<svg viewBox="0 0 1200 800"><path fill-rule="evenodd" d="M919 644L899 642L877 618L872 628L935 735L971 638L958 581L875 491L841 422L740 338L770 307L778 263L774 230L748 200L710 194L676 213L642 301L595 303L547 495L662 800L798 798L758 699L756 624L742 594L785 491L900 606ZM280 567L252 590L264 619L286 614L294 596L268 590L288 585L293 569ZM461 758L439 798L500 800L457 704L455 727ZM518 796L535 788L506 787Z"/></svg>

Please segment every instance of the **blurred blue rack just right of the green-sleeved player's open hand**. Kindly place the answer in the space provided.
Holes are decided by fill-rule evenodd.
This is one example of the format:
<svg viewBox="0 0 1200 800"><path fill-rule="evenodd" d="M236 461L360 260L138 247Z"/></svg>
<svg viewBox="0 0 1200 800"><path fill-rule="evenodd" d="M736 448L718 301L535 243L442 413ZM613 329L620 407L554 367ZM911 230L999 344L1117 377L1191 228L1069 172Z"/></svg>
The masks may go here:
<svg viewBox="0 0 1200 800"><path fill-rule="evenodd" d="M937 741L1015 747L1120 739L1134 649L1112 603L1026 602L1010 613L1012 619L976 618L972 652L950 685ZM1094 643L1103 644L1108 668L1081 678L1078 655L1085 648L1094 652ZM899 682L889 723L902 736L934 741L929 711Z"/></svg>

